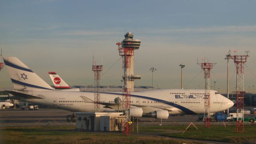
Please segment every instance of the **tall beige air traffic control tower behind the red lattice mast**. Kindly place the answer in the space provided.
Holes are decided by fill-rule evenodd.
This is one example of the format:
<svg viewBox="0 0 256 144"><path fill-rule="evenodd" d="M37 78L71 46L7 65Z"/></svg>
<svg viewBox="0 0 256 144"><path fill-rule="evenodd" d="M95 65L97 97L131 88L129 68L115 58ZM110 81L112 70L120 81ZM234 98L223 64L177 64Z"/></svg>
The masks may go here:
<svg viewBox="0 0 256 144"><path fill-rule="evenodd" d="M124 35L124 40L122 41L122 48L138 50L140 48L140 40L134 40L133 34L131 32L127 32ZM128 78L129 81L127 82L127 86L130 86L131 92L134 91L134 80L140 80L140 78L140 75L134 75L134 55L132 55L130 59L130 78Z"/></svg>

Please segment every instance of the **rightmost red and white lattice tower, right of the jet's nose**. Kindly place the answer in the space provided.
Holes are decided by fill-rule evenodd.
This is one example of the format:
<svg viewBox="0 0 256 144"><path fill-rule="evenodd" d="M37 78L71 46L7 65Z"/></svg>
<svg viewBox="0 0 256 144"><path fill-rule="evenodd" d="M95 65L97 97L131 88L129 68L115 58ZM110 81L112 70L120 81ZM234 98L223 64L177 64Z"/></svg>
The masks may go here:
<svg viewBox="0 0 256 144"><path fill-rule="evenodd" d="M244 63L246 62L248 52L246 56L236 55L232 56L234 63L236 64L236 132L244 133Z"/></svg>

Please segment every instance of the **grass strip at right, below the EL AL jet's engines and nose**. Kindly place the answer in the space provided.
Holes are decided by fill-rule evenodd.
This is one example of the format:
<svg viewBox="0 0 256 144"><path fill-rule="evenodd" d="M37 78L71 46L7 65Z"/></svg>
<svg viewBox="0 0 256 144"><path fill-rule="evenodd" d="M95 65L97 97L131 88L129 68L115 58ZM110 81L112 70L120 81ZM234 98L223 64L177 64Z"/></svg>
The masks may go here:
<svg viewBox="0 0 256 144"><path fill-rule="evenodd" d="M198 130L194 126L190 126L186 132L184 130L188 125L171 125L171 126L140 126L140 131L143 133L158 132L161 136L168 136L174 138L188 138L196 140L211 140L220 142L232 142L232 143L256 143L256 125L245 125L244 133L236 133L236 125L212 125L211 128L205 128L200 125L197 126ZM150 128L149 128L150 127ZM184 132L184 134L182 134Z"/></svg>

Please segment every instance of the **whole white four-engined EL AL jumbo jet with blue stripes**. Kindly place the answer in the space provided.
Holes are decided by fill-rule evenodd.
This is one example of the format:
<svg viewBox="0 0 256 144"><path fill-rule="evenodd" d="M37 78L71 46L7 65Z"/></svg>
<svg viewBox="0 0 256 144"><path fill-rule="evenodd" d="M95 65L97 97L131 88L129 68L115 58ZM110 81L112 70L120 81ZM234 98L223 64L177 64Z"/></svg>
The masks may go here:
<svg viewBox="0 0 256 144"><path fill-rule="evenodd" d="M7 91L18 100L60 108L72 112L94 112L94 92L55 90L16 57L3 58L14 90ZM122 92L100 92L100 112L120 110ZM158 89L131 92L132 117L168 119L170 114L204 114L204 90ZM215 90L210 90L210 112L231 108L234 103Z"/></svg>

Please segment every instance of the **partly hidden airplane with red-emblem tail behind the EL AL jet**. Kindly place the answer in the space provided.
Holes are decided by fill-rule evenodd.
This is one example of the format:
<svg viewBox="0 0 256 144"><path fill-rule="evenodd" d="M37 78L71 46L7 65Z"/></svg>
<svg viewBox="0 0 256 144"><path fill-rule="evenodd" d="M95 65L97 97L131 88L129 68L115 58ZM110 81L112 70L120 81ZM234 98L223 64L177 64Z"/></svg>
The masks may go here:
<svg viewBox="0 0 256 144"><path fill-rule="evenodd" d="M64 90L64 91L80 91L79 88L71 88L56 72L48 72L52 83L54 84L54 88L56 90Z"/></svg>

